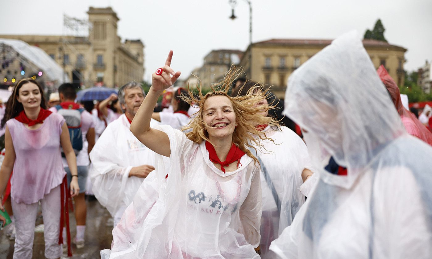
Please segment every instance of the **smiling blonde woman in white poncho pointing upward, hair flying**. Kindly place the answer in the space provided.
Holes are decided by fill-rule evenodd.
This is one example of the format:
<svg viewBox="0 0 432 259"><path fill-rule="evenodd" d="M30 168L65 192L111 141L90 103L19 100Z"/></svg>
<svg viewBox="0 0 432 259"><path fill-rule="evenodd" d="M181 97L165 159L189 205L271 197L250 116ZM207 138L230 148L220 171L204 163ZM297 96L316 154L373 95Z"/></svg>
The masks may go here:
<svg viewBox="0 0 432 259"><path fill-rule="evenodd" d="M159 95L180 76L170 68L152 86L130 126L156 155L156 170L143 181L113 230L111 250L102 259L259 259L261 186L257 158L248 148L267 139L254 123L276 126L255 105L264 97L228 95L234 72L205 96L188 91L182 98L199 106L184 128L150 127ZM159 70L159 69L158 69ZM160 70L159 70L160 71ZM164 163L163 158L169 162Z"/></svg>

